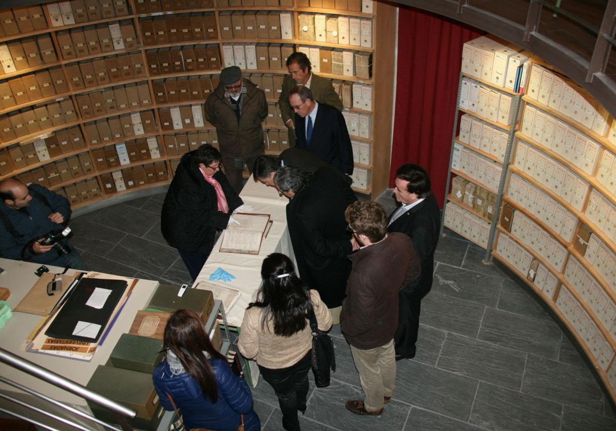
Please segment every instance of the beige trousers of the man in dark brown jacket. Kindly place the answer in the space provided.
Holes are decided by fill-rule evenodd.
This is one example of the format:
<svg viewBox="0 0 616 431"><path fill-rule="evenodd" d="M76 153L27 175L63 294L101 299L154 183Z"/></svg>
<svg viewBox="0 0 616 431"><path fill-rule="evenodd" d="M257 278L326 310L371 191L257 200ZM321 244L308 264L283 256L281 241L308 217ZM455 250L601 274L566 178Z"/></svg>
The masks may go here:
<svg viewBox="0 0 616 431"><path fill-rule="evenodd" d="M361 350L351 346L355 368L362 384L363 406L367 411L383 407L383 397L391 397L395 387L394 340L381 347Z"/></svg>

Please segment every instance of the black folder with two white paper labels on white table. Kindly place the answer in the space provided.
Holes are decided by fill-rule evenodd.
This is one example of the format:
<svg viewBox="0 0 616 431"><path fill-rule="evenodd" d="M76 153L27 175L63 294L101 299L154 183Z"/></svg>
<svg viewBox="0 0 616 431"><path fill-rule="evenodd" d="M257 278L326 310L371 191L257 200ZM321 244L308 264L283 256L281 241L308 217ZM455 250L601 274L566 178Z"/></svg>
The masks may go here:
<svg viewBox="0 0 616 431"><path fill-rule="evenodd" d="M109 280L105 278L82 278L67 302L49 325L45 335L48 337L85 341L95 343L102 335L107 322L113 315L116 305L120 302L128 283L124 280ZM102 308L86 305L95 288L109 289L111 293ZM99 324L100 328L94 337L73 335L79 321L89 324Z"/></svg>

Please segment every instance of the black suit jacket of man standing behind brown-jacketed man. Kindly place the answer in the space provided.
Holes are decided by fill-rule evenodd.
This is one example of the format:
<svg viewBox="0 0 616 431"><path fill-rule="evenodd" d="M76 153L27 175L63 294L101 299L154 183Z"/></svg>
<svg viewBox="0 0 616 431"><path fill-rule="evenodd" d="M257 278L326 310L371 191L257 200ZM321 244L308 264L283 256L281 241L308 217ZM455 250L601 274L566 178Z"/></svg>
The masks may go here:
<svg viewBox="0 0 616 431"><path fill-rule="evenodd" d="M387 220L391 219L394 212ZM413 247L421 261L421 276L407 288L421 289L424 296L432 288L434 250L439 242L440 233L440 209L434 193L430 192L423 202L398 217L387 227L387 232L406 233L413 241Z"/></svg>

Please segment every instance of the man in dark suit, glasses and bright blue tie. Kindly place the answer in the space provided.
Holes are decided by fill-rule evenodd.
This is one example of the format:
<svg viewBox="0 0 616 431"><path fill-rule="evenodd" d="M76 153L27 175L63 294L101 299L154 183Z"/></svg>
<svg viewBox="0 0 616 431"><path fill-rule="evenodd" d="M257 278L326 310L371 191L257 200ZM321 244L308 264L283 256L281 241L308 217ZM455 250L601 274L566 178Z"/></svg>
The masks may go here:
<svg viewBox="0 0 616 431"><path fill-rule="evenodd" d="M289 103L295 111L295 146L351 175L353 149L342 113L330 105L318 103L305 86L296 86L290 91Z"/></svg>

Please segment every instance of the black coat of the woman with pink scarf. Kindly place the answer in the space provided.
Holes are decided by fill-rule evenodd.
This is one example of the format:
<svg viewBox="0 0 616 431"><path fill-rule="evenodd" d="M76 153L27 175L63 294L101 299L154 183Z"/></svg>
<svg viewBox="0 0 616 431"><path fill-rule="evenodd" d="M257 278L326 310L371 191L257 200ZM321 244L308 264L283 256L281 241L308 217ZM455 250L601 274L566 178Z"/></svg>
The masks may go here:
<svg viewBox="0 0 616 431"><path fill-rule="evenodd" d="M218 171L214 179L221 183L229 213L218 211L216 190L203 178L195 154L196 150L186 153L177 166L164 198L160 228L170 246L209 254L214 235L227 227L230 214L242 201L227 177Z"/></svg>

